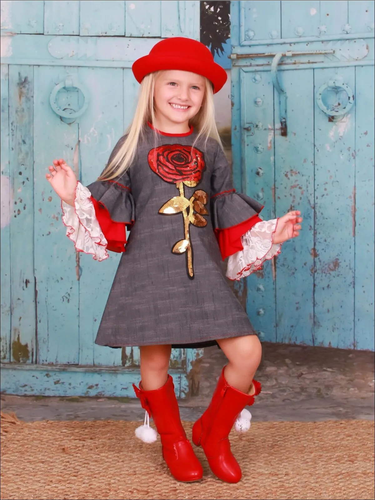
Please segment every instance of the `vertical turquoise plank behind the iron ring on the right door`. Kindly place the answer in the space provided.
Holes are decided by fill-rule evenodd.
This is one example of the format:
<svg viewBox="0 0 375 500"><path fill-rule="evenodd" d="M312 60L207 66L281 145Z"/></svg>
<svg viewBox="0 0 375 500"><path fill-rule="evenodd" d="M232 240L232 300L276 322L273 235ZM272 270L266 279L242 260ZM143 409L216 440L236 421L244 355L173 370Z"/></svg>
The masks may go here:
<svg viewBox="0 0 375 500"><path fill-rule="evenodd" d="M339 76L354 89L354 68ZM314 95L332 77L314 71ZM355 105L355 104L354 104ZM354 109L332 121L315 99L314 345L354 346Z"/></svg>

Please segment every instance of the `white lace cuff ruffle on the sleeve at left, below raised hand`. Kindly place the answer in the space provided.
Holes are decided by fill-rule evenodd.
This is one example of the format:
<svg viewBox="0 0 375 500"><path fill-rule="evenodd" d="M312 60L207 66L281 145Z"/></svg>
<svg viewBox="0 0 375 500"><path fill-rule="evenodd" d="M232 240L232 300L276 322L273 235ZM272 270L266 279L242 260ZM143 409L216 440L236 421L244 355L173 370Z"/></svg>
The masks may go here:
<svg viewBox="0 0 375 500"><path fill-rule="evenodd" d="M74 243L76 251L92 255L94 260L109 257L107 240L100 229L87 187L77 182L74 206L61 201L62 222L66 226L66 236Z"/></svg>

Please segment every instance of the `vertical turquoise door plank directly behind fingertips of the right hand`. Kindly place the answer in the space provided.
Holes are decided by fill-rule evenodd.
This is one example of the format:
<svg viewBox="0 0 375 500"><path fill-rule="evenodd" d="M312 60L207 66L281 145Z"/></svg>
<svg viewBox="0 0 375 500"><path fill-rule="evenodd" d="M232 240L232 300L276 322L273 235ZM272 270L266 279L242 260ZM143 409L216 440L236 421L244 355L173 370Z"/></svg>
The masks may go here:
<svg viewBox="0 0 375 500"><path fill-rule="evenodd" d="M276 264L276 340L311 344L313 338L313 202L314 202L314 92L313 70L280 71L287 100L287 136L279 128L278 93L274 92L276 130L275 212L299 209L300 236L282 245ZM272 148L270 137L268 147ZM267 264L268 265L268 264Z"/></svg>

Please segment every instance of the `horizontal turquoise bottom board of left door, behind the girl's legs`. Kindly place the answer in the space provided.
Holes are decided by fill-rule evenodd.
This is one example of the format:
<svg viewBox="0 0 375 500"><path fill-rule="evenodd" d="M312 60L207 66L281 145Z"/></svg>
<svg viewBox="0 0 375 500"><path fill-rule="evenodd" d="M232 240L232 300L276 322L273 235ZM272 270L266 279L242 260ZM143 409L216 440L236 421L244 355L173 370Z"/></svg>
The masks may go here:
<svg viewBox="0 0 375 500"><path fill-rule="evenodd" d="M43 396L105 396L133 397L132 383L139 383L139 369L120 367L88 367L88 366L14 366L1 364L0 390L5 394ZM173 377L174 391L177 397L185 397L180 393L181 380L186 374L181 370L170 370ZM139 405L139 418L144 412Z"/></svg>

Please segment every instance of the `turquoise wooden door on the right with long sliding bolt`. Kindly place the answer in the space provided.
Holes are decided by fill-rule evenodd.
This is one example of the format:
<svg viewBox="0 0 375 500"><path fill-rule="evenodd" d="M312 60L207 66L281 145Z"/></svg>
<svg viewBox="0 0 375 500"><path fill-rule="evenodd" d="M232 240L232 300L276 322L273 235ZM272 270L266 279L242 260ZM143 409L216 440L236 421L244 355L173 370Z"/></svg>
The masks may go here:
<svg viewBox="0 0 375 500"><path fill-rule="evenodd" d="M374 2L233 1L233 178L300 237L247 278L260 339L374 349Z"/></svg>

